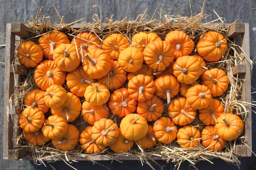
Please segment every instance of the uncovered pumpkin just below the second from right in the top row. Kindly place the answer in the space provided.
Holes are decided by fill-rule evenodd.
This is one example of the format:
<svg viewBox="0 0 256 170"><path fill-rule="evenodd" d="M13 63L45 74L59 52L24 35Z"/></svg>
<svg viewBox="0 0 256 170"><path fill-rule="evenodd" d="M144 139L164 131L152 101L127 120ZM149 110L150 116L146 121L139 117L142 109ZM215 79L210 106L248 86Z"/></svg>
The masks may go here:
<svg viewBox="0 0 256 170"><path fill-rule="evenodd" d="M173 74L180 83L191 84L201 74L201 64L193 56L179 57L173 64Z"/></svg>

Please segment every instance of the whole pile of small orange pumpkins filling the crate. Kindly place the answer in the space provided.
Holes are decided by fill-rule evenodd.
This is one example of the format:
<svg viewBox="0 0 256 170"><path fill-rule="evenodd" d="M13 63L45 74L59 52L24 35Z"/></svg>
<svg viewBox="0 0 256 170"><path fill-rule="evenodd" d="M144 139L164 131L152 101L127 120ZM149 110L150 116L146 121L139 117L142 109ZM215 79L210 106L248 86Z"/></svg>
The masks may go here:
<svg viewBox="0 0 256 170"><path fill-rule="evenodd" d="M215 99L227 90L229 79L218 68L209 70L204 60L220 60L227 40L209 31L197 42L198 55L189 56L194 45L177 30L164 41L154 32L134 34L131 42L124 34L111 34L102 41L84 32L70 43L67 35L52 31L40 37L38 44L21 43L17 58L27 68L36 67L34 79L40 88L24 99L27 107L19 116L24 137L39 146L51 139L63 151L73 150L80 142L88 154L108 146L115 153L125 153L134 141L150 149L157 141L170 144L176 138L181 147L196 147L201 141L208 150L222 150L227 141L238 138L244 123L236 114L224 113L224 106ZM70 92L62 87L64 83ZM184 97L171 101L179 92ZM162 116L161 99L167 99L169 117ZM49 108L52 116L46 119ZM189 125L197 111L206 125L201 132ZM90 124L81 133L69 124L80 113ZM111 113L122 118L119 127L109 119Z"/></svg>

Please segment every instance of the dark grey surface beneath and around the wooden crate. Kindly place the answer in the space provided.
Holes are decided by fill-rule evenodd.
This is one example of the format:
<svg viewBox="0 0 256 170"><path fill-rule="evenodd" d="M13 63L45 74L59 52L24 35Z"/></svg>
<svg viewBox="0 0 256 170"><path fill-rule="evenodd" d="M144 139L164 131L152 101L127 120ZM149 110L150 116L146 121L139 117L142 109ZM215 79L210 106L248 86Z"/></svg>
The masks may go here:
<svg viewBox="0 0 256 170"><path fill-rule="evenodd" d="M54 8L49 0L35 0L38 6L44 6L49 10L51 15L55 20L59 21L58 15L55 13ZM111 14L114 14L113 19L122 20L124 17L133 18L137 17L138 14L144 12L145 8L148 8L148 15L152 15L154 10L157 8L160 12L160 7L163 2L163 9L168 14L180 14L183 16L190 16L189 0L53 0L56 8L58 9L61 16L64 16L64 22L71 23L75 20L79 20L83 17L84 22L92 22L93 15L93 5L98 5L102 9L102 21L107 22L106 17L110 18ZM35 16L37 11L37 6L32 2L32 0L0 0L0 36L5 37L6 23L12 22L22 22L26 23L31 20L31 16ZM191 0L193 15L198 14L201 11L202 1L201 0ZM256 10L251 10L256 6L255 0L207 0L204 10L207 14L211 16L207 19L208 21L216 19L217 16L213 12L213 9L220 15L224 17L227 23L232 23L239 19L239 22L250 23L250 57L256 55L255 44L256 44ZM46 14L46 12L44 12ZM95 13L99 14L99 8L95 7ZM0 45L5 44L5 40L0 39ZM0 47L0 62L5 62L5 47ZM4 64L0 64L0 148L3 145L3 82L4 82ZM256 68L253 69L253 73L256 73ZM255 77L252 79L252 88L256 88ZM253 89L252 89L253 91ZM255 96L253 96L254 98ZM256 116L253 113L253 121L256 120ZM253 134L255 129L253 126ZM253 136L253 146L256 146L256 140ZM256 151L256 148L253 148ZM250 158L241 159L240 168L242 170L252 170L253 164L255 162L255 156ZM174 169L174 165L169 163L166 164L165 161L157 161L161 164L163 169ZM236 170L239 169L237 166L227 164L226 162L215 159L214 164L211 165L209 162L201 161L196 164L196 167L201 169L213 170L213 169L226 169L226 170ZM115 169L150 169L147 164L142 167L139 161L124 161L122 164L116 161L100 161L99 164L105 165L108 168ZM63 162L52 163L57 169L70 169ZM73 166L77 169L106 169L99 164L93 164L88 161L80 161L79 163L73 163ZM0 169L51 169L46 163L47 168L35 165L32 161L8 161L3 160L3 150L0 149ZM154 166L156 169L160 167ZM181 164L180 169L194 169L189 167L187 162Z"/></svg>

